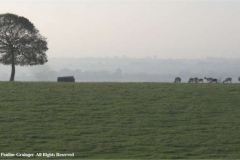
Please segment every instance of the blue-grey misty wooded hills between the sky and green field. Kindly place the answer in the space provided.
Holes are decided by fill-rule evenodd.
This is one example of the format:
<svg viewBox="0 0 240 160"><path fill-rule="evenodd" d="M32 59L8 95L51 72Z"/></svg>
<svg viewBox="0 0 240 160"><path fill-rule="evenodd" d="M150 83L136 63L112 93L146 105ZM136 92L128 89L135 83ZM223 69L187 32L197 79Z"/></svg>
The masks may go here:
<svg viewBox="0 0 240 160"><path fill-rule="evenodd" d="M16 67L17 81L56 81L74 76L76 82L173 82L176 76L214 77L238 82L240 58L158 59L147 58L50 58L43 66ZM10 67L1 65L1 80L7 81ZM205 81L206 82L206 81Z"/></svg>

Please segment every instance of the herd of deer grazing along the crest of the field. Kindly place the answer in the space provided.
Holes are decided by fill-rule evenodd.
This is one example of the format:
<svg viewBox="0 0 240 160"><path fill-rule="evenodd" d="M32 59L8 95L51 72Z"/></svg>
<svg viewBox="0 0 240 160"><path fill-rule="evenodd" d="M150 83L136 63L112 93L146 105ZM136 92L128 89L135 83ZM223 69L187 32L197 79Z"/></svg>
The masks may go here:
<svg viewBox="0 0 240 160"><path fill-rule="evenodd" d="M207 77L204 77L204 79L202 78L189 78L188 80L188 83L203 83L203 80L206 80L207 83L218 83L218 79L216 78L207 78ZM240 82L240 77L238 77L238 81ZM229 83L232 83L232 78L226 78L223 83L225 82L229 82ZM174 80L174 83L181 83L181 78L180 77L176 77L175 80Z"/></svg>

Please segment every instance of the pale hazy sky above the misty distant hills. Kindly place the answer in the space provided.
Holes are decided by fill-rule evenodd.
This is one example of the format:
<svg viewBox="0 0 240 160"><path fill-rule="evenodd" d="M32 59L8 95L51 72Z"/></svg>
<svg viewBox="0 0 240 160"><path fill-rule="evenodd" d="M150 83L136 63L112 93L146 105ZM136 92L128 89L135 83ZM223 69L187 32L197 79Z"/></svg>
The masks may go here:
<svg viewBox="0 0 240 160"><path fill-rule="evenodd" d="M28 18L48 57L240 57L240 1L0 1Z"/></svg>

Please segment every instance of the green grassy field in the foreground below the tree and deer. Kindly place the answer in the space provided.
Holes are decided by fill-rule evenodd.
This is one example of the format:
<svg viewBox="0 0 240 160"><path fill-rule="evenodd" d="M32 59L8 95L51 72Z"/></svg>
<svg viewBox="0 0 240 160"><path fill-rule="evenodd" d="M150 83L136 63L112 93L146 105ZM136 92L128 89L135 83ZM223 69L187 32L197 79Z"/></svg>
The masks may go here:
<svg viewBox="0 0 240 160"><path fill-rule="evenodd" d="M239 159L240 84L0 82L0 152Z"/></svg>

